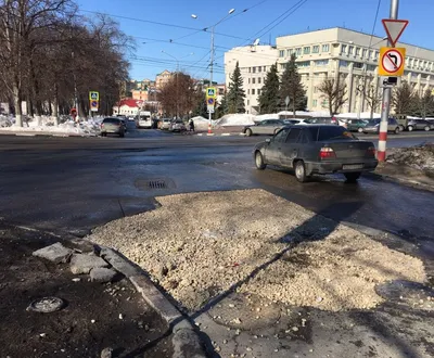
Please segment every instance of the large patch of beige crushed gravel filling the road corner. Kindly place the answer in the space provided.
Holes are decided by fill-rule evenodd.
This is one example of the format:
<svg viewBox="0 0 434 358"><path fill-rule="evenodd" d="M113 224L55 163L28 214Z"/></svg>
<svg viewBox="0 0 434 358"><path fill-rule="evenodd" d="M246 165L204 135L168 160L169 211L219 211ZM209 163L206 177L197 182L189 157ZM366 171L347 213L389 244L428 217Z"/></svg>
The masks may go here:
<svg viewBox="0 0 434 358"><path fill-rule="evenodd" d="M378 283L425 280L419 259L263 190L157 201L88 239L120 251L190 310L237 283L267 301L336 311L380 304Z"/></svg>

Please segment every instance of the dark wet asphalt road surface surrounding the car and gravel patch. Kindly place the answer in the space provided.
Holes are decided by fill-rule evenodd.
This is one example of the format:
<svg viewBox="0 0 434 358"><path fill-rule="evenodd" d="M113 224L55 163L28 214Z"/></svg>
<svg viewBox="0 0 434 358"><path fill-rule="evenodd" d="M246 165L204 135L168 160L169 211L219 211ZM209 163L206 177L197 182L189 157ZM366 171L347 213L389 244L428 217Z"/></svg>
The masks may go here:
<svg viewBox="0 0 434 358"><path fill-rule="evenodd" d="M396 137L390 146L434 140ZM133 128L124 139L1 136L0 216L49 230L90 229L152 208L158 195L264 188L340 221L433 236L434 193L368 178L348 184L341 176L301 184L290 171L254 168L258 140ZM166 188L149 189L155 179Z"/></svg>

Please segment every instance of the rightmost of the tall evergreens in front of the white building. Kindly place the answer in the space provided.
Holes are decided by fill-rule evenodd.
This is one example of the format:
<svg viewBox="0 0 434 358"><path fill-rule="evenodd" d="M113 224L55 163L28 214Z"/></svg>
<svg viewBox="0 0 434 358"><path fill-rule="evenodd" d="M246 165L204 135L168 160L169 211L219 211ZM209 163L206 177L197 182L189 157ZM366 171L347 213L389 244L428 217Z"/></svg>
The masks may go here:
<svg viewBox="0 0 434 358"><path fill-rule="evenodd" d="M291 60L286 63L280 84L280 98L282 106L285 106L284 100L290 98L290 108L295 117L295 111L306 110L306 90L302 85L302 77L298 74L295 63L296 55L293 53Z"/></svg>

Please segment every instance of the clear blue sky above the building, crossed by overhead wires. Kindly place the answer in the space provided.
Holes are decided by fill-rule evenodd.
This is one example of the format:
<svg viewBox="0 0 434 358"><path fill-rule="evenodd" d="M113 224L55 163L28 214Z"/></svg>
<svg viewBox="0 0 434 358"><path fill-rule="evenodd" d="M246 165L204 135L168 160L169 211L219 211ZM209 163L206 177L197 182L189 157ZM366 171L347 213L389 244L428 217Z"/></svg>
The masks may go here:
<svg viewBox="0 0 434 358"><path fill-rule="evenodd" d="M385 36L381 18L388 17L390 1L381 0L375 35ZM181 69L194 77L207 78L210 35L195 29L212 26L230 9L235 9L227 21L216 27L214 79L222 81L224 52L232 47L252 42L258 33L261 43L268 43L270 36L273 42L277 36L334 26L345 26L370 34L379 0L78 0L77 2L81 10L113 15L119 23L120 29L133 37L137 59L128 55L131 62L130 76L133 79L154 79L155 75L165 68L176 69L177 62L174 57L178 59ZM294 10L297 5L301 7ZM244 10L247 11L243 12ZM265 28L286 11L289 16L284 21L271 30ZM400 40L434 49L434 38L430 29L433 13L433 0L400 0L399 18L410 21ZM82 14L92 16L91 13ZM197 15L197 18L193 20L191 14ZM148 21L175 26L163 26Z"/></svg>

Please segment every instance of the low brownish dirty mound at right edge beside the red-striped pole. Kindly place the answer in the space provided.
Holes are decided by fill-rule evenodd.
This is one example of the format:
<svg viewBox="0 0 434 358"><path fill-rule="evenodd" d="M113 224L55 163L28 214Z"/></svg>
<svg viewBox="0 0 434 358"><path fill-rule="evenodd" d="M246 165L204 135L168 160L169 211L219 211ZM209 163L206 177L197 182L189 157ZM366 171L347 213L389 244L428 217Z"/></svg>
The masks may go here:
<svg viewBox="0 0 434 358"><path fill-rule="evenodd" d="M387 156L387 162L408 165L434 175L434 143L396 149Z"/></svg>

